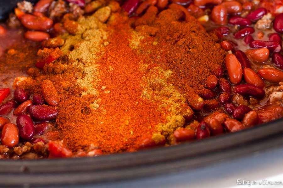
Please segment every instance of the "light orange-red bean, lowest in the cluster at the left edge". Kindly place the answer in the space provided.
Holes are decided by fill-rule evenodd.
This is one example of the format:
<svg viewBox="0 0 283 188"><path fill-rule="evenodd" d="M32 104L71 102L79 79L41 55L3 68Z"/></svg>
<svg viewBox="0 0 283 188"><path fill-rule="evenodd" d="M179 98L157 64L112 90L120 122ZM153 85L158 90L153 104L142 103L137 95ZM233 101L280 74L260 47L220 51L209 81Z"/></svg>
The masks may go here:
<svg viewBox="0 0 283 188"><path fill-rule="evenodd" d="M19 131L15 124L6 123L2 129L1 144L13 148L19 143Z"/></svg>

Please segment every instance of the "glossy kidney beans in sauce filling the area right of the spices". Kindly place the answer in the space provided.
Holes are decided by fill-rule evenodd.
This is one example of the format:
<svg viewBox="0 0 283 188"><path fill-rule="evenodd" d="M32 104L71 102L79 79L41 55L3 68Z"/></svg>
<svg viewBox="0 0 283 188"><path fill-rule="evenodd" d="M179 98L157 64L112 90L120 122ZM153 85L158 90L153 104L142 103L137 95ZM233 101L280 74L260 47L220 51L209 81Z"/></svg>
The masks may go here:
<svg viewBox="0 0 283 188"><path fill-rule="evenodd" d="M126 1L123 7L130 15L140 15L149 6L162 10L168 3L178 4L176 8L196 17L218 36L227 51L227 75L222 69L213 72L207 78L207 89L199 92L203 100L189 104L200 114L204 114L203 109L213 111L219 106L226 113L208 115L195 131L190 126L177 129L176 142L236 132L281 118L283 1L146 0Z"/></svg>

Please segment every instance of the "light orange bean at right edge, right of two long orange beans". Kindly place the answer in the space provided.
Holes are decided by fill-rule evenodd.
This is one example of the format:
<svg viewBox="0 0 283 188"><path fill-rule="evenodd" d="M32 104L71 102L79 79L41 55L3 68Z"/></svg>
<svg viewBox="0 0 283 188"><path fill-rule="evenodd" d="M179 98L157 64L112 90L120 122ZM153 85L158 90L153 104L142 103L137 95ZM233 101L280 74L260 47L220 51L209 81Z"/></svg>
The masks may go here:
<svg viewBox="0 0 283 188"><path fill-rule="evenodd" d="M261 76L264 80L271 82L283 81L283 71L273 68L260 69L258 70L258 75Z"/></svg>

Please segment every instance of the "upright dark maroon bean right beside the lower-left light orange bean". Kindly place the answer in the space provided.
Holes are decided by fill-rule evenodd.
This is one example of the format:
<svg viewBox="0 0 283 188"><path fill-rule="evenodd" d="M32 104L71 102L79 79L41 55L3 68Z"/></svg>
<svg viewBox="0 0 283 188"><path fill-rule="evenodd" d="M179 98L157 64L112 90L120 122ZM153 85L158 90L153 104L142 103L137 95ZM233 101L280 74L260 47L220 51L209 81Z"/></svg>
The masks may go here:
<svg viewBox="0 0 283 188"><path fill-rule="evenodd" d="M19 115L17 118L17 127L21 138L30 141L34 136L34 124L28 115Z"/></svg>

